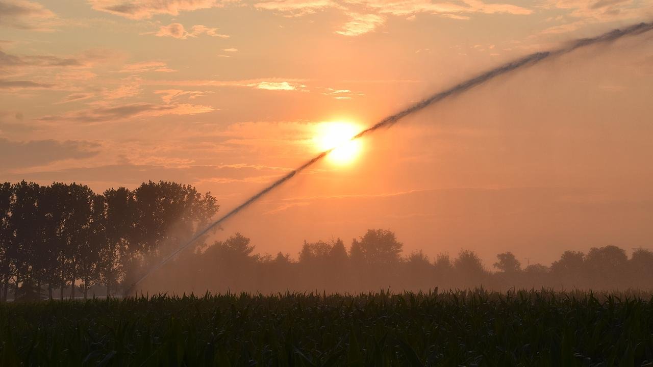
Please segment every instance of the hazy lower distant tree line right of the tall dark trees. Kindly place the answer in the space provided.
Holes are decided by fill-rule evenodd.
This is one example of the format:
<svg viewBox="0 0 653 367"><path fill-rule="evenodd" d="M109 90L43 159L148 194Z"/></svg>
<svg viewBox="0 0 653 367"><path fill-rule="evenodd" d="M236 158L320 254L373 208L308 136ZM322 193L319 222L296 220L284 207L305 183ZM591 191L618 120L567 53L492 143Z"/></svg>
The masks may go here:
<svg viewBox="0 0 653 367"><path fill-rule="evenodd" d="M653 252L636 249L631 257L617 246L592 247L587 253L565 251L550 266L522 266L511 252L490 266L474 251L456 257L441 253L429 259L422 251L402 253L394 232L369 229L345 247L340 238L304 242L298 258L255 253L240 233L205 249L185 253L153 274L151 292L204 293L287 290L349 292L419 291L485 287L508 289L653 290ZM171 276L171 274L174 274Z"/></svg>

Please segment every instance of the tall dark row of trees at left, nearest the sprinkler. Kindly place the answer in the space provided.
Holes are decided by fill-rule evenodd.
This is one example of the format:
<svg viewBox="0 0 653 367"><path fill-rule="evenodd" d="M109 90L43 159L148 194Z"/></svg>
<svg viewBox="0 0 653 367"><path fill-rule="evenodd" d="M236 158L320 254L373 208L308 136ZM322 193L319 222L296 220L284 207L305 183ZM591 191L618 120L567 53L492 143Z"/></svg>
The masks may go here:
<svg viewBox="0 0 653 367"><path fill-rule="evenodd" d="M78 183L2 183L0 299L35 289L63 298L67 287L86 297L97 285L112 294L144 259L190 236L218 208L210 193L174 182L101 194Z"/></svg>

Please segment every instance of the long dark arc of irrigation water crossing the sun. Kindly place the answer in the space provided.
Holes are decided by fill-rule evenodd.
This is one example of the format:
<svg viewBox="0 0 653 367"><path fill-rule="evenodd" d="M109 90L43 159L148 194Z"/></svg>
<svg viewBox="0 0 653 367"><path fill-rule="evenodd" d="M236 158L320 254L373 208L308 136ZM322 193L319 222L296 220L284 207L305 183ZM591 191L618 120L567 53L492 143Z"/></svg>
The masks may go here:
<svg viewBox="0 0 653 367"><path fill-rule="evenodd" d="M352 136L350 140L355 140L355 139L361 138L362 136L368 135L369 133L372 133L372 132L376 131L377 129L380 129L381 127L390 127L390 126L394 125L394 123L396 123L400 119L402 119L402 118L404 118L404 117L406 117L406 116L408 116L410 114L413 114L413 113L415 113L415 112L417 112L419 110L422 110L422 109L424 109L427 106L430 106L432 104L438 103L439 101L441 101L441 100L443 100L443 99L445 99L447 97L450 97L451 95L456 95L456 94L460 94L460 93L463 93L465 91L468 91L469 89L474 88L475 86L479 86L480 84L483 84L486 81L494 79L497 76L500 76L502 74L507 74L509 72L516 71L516 70L522 69L524 67L532 66L535 63L538 63L539 61L542 61L543 59L548 59L548 58L551 58L551 57L554 57L554 56L561 56L561 55L564 55L564 54L568 54L569 52L577 50L578 48L591 46L593 44L611 42L613 40L617 40L617 39L620 39L622 37L629 36L629 35L639 35L641 33L648 32L648 31L650 31L652 29L653 29L653 23L635 24L635 25L631 25L629 27L626 27L624 29L614 29L613 31L610 31L608 33L603 33L603 35L599 35L599 36L594 37L594 38L575 40L574 42L571 42L571 44L569 44L569 46L566 46L564 48L559 48L558 50L552 50L552 51L546 51L546 52L536 52L535 54L530 54L530 55L528 55L526 57L522 57L521 59L517 59L515 61L511 61L509 63L501 65L500 67L496 67L496 68L494 68L494 69L492 69L492 70L490 70L488 72L480 74L479 76L475 76L474 78L465 80L464 82L462 82L460 84L457 84L456 86L453 86L452 88L446 89L446 90L441 91L439 93L436 93L436 94L434 94L434 95L432 95L432 96L430 96L430 97L428 97L426 99L423 99L422 101L420 101L420 102L418 102L416 104L413 104L412 106L406 108L405 110L402 110L402 111L400 111L400 112L398 112L398 113L396 113L396 114L394 114L392 116L388 116L387 118L379 121L375 125L372 125L372 127L368 127L368 129L365 129L365 130L361 131L360 133L358 133L355 136ZM236 215L238 212L240 212L241 210L243 210L244 208L249 206L249 204L261 199L261 197L263 197L263 195L266 195L267 193L272 191L272 189L275 189L279 185L281 185L284 182L286 182L286 181L290 180L291 178L293 178L296 174L302 172L303 170L310 167L314 163L317 163L317 161L320 161L321 159L326 157L328 153L332 152L336 148L338 148L338 146L336 146L334 148L330 148L329 150L325 150L322 153L319 153L318 155L316 155L315 157L313 157L312 159L310 159L309 161L307 161L306 163L304 163L300 167L295 168L295 170L292 170L291 172L289 172L285 176L279 178L279 180L276 180L272 184L268 185L268 187L264 188L259 193L254 195L253 197L250 197L245 202L243 202L242 204L240 204L236 208L232 209L231 212L228 212L227 214L223 215L222 217L220 217L219 219L217 219L216 221L214 221L210 225L206 226L204 229L201 229L200 231L197 231L190 240L188 240L187 242L182 244L182 246L180 246L177 249L175 249L174 251L172 251L172 253L168 254L163 260L161 260L158 264L153 266L146 274L144 274L141 278L136 280L135 283L133 283L131 285L131 287L129 287L126 294L129 295L131 293L131 291L136 287L136 285L141 283L144 279L148 278L148 276L150 276L151 273L153 273L157 269L161 268L161 266L168 263L168 261L170 261L170 259L174 258L178 253L183 251L183 249L185 249L186 247L193 244L201 236L204 236L204 234L207 234L209 231L216 228L218 225L225 222L230 217Z"/></svg>

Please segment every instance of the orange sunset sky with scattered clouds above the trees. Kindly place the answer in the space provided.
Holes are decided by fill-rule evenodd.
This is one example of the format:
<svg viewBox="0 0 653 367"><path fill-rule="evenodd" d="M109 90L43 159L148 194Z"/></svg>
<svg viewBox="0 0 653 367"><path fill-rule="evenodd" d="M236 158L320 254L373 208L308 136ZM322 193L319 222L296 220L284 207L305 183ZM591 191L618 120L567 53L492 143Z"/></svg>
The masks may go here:
<svg viewBox="0 0 653 367"><path fill-rule="evenodd" d="M0 180L175 181L227 212L334 124L652 19L650 0L0 0ZM652 99L650 35L579 50L362 139L216 237L296 257L384 228L406 254L473 249L488 267L653 248Z"/></svg>

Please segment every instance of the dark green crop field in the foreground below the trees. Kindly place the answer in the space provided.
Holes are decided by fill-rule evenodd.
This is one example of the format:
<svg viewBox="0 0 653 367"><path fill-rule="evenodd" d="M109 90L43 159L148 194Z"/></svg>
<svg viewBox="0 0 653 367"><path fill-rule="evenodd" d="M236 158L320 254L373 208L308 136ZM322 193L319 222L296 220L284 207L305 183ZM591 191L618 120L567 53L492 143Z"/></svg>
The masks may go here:
<svg viewBox="0 0 653 367"><path fill-rule="evenodd" d="M653 298L154 296L0 305L1 366L653 366Z"/></svg>

